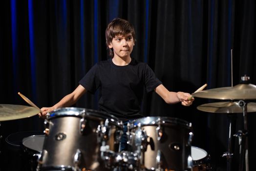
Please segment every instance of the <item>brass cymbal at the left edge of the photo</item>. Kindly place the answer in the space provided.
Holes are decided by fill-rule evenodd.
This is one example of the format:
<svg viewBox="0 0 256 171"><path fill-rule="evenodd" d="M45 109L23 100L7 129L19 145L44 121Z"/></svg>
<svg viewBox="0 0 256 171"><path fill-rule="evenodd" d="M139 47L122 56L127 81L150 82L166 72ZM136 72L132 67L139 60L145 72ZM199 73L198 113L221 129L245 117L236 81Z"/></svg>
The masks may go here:
<svg viewBox="0 0 256 171"><path fill-rule="evenodd" d="M22 105L0 104L0 121L9 121L34 116L40 109Z"/></svg>

